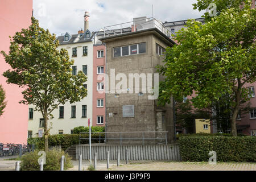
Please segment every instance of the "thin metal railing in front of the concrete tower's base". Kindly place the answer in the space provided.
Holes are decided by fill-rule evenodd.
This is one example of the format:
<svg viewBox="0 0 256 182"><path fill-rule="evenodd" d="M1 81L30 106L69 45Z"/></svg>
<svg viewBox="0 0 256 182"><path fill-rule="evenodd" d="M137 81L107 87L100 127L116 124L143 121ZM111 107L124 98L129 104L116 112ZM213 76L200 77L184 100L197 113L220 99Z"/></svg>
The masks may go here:
<svg viewBox="0 0 256 182"><path fill-rule="evenodd" d="M88 138L83 138L82 134L88 135L89 133L80 133L79 134L79 145L81 144L81 140L89 140ZM149 143L162 143L167 144L167 134L168 131L134 131L134 132L102 132L102 133L91 133L93 136L95 134L98 135L97 138L91 138L91 140L98 140L98 142L106 143L107 140L110 140L115 143L119 143L120 146L122 144L127 144L127 142L134 144L146 144ZM101 142L101 141L104 142Z"/></svg>

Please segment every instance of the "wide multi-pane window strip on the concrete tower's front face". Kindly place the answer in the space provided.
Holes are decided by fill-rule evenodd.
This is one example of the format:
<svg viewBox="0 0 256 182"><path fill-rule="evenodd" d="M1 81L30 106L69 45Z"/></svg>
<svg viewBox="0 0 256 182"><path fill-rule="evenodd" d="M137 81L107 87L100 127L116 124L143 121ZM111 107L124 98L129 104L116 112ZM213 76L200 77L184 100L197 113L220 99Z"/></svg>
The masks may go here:
<svg viewBox="0 0 256 182"><path fill-rule="evenodd" d="M146 42L113 48L114 57L137 55L139 53L146 53Z"/></svg>

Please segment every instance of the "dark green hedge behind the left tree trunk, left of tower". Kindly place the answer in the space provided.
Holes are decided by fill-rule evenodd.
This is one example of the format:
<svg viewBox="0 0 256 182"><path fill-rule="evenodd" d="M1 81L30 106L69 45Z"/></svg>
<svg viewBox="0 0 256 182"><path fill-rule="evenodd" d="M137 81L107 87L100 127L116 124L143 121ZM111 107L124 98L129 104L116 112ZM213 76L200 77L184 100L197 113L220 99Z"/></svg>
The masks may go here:
<svg viewBox="0 0 256 182"><path fill-rule="evenodd" d="M104 143L104 134L101 134L101 143ZM81 138L89 138L89 134L81 134ZM100 134L92 134L92 138L100 138ZM28 138L28 144L35 144L36 149L44 148L44 138ZM92 139L92 143L99 143L100 140ZM81 144L88 144L89 139L82 139ZM72 146L73 144L79 144L79 134L59 134L49 135L49 146L61 146L63 150Z"/></svg>

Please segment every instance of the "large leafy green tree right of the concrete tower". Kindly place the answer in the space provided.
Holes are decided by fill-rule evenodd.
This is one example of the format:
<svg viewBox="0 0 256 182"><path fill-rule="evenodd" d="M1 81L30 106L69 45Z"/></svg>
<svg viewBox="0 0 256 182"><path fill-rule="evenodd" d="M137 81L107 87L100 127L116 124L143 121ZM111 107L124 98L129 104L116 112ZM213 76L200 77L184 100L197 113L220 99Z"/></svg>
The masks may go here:
<svg viewBox="0 0 256 182"><path fill-rule="evenodd" d="M176 40L179 45L167 48L159 72L159 104L174 97L192 95L193 105L207 108L228 94L232 108L232 135L237 136L236 118L241 103L249 100L245 83L255 81L255 9L250 1L242 10L222 10L202 24L188 20Z"/></svg>

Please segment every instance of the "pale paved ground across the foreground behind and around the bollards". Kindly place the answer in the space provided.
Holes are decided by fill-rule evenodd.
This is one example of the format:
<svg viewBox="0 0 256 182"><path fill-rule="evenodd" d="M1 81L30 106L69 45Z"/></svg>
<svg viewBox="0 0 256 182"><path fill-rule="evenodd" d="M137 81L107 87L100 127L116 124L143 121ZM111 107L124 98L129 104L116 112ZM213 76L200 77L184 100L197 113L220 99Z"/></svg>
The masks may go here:
<svg viewBox="0 0 256 182"><path fill-rule="evenodd" d="M17 160L0 159L0 171L14 171ZM73 168L68 171L78 170L78 160L72 160ZM90 166L89 160L82 161L82 170L87 170ZM92 161L93 164L93 161ZM110 168L106 168L106 161L97 161L97 171L256 171L256 163L217 163L207 162L170 162L170 161L110 161Z"/></svg>

